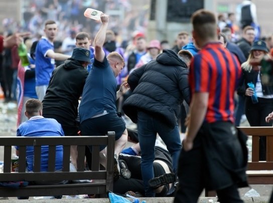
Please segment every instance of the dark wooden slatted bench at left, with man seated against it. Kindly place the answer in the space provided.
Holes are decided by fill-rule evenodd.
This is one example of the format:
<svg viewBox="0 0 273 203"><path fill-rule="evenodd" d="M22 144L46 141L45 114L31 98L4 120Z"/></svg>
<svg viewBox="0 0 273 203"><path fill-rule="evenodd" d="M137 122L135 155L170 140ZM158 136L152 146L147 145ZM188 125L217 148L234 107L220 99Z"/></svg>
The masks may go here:
<svg viewBox="0 0 273 203"><path fill-rule="evenodd" d="M48 172L40 172L41 146L49 146ZM56 145L63 145L63 169L54 171ZM70 146L78 146L77 171L70 172ZM85 146L92 145L92 167L85 169ZM107 166L100 169L99 146L107 145ZM4 146L4 172L0 181L55 181L93 180L90 183L67 183L48 185L28 185L18 189L0 187L0 196L57 196L76 194L99 194L106 197L113 189L114 132L106 136L67 136L67 137L0 137ZM19 146L19 172L11 172L12 147ZM34 146L33 172L26 172L26 146Z"/></svg>

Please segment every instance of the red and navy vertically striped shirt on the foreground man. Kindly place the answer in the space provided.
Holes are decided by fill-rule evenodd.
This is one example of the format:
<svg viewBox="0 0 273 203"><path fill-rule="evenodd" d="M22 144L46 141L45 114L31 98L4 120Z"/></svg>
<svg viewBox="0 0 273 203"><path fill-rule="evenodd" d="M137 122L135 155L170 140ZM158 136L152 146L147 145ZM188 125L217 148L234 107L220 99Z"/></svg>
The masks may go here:
<svg viewBox="0 0 273 203"><path fill-rule="evenodd" d="M205 121L234 122L234 91L241 78L236 57L219 43L209 43L191 62L189 83L191 94L208 92Z"/></svg>

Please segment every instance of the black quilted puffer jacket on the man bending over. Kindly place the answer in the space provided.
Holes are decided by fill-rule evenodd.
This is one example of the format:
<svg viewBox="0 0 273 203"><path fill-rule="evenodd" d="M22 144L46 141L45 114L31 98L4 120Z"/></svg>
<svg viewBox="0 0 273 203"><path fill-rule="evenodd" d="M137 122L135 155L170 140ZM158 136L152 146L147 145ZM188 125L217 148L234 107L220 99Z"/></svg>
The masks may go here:
<svg viewBox="0 0 273 203"><path fill-rule="evenodd" d="M156 60L134 70L128 77L132 95L124 102L124 113L137 123L138 110L142 110L174 128L181 103L190 101L186 67L174 51L163 50Z"/></svg>

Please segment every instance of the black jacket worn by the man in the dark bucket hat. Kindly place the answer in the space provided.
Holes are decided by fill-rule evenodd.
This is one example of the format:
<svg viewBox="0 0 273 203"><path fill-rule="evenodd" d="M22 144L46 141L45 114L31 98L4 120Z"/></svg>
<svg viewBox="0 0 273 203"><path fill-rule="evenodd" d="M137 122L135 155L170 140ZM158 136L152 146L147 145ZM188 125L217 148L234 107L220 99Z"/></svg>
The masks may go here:
<svg viewBox="0 0 273 203"><path fill-rule="evenodd" d="M71 58L57 67L53 71L43 100L43 113L75 121L78 115L78 100L87 76L87 70Z"/></svg>

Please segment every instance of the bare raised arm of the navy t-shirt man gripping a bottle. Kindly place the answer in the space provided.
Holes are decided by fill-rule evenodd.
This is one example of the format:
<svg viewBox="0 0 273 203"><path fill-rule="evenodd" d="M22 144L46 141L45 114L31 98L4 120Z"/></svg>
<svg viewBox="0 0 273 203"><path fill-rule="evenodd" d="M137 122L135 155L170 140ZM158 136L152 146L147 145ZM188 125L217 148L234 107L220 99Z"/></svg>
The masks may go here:
<svg viewBox="0 0 273 203"><path fill-rule="evenodd" d="M101 14L100 20L102 25L99 28L98 33L96 34L96 37L94 39L95 43L95 59L99 62L103 62L105 53L102 49L105 37L106 37L106 30L109 23L109 16L105 14Z"/></svg>

